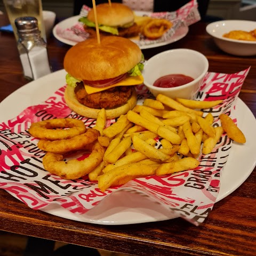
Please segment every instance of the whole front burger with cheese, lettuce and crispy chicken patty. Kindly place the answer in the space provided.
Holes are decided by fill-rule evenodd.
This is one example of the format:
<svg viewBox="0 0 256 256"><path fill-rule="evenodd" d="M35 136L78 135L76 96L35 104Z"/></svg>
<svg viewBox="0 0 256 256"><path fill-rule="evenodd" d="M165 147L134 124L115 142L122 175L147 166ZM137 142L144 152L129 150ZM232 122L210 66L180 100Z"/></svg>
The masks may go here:
<svg viewBox="0 0 256 256"><path fill-rule="evenodd" d="M86 39L67 51L63 65L68 73L65 100L77 114L95 119L105 108L113 119L137 104L134 85L143 83L143 55L130 39Z"/></svg>

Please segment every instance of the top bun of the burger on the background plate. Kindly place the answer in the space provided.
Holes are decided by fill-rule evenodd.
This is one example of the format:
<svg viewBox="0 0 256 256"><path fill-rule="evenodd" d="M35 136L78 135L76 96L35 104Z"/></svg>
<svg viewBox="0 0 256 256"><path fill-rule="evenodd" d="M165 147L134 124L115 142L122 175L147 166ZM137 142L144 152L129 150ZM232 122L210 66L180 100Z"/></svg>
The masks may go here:
<svg viewBox="0 0 256 256"><path fill-rule="evenodd" d="M96 6L98 23L110 27L123 26L134 21L132 10L121 3L98 4ZM87 15L87 19L95 23L93 9Z"/></svg>

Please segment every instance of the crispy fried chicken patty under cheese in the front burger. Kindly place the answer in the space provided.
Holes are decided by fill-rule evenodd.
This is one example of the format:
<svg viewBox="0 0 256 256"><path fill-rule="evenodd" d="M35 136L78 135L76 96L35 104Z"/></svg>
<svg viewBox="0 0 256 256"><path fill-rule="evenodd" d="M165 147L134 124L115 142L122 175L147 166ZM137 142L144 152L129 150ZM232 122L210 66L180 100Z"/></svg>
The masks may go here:
<svg viewBox="0 0 256 256"><path fill-rule="evenodd" d="M132 86L117 86L106 91L87 94L83 82L75 87L77 100L89 108L114 108L127 102L132 94Z"/></svg>

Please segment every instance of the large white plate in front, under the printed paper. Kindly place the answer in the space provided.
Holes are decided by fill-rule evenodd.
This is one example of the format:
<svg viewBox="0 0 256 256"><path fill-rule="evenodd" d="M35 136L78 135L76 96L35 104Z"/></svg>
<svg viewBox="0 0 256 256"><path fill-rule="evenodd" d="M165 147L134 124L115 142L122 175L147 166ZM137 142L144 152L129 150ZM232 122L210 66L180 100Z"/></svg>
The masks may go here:
<svg viewBox="0 0 256 256"><path fill-rule="evenodd" d="M0 122L14 118L29 106L44 102L61 86L65 85L65 75L65 70L59 70L30 82L10 94L9 97L0 103ZM16 102L19 102L19 104L17 105ZM238 126L245 133L247 141L244 145L234 143L228 157L228 162L221 174L221 187L217 201L220 201L237 189L249 177L256 164L255 117L239 98L236 111ZM123 200L123 194L122 197L114 194L110 198L111 202L107 206L103 206L105 204L100 206L100 204L100 208L97 207L97 210L92 209L83 215L73 214L60 206L54 206L57 208L49 206L44 211L66 219L101 225L124 225L175 218L163 206L155 204L149 201L149 199L141 198L138 195L134 197L127 193L125 200Z"/></svg>

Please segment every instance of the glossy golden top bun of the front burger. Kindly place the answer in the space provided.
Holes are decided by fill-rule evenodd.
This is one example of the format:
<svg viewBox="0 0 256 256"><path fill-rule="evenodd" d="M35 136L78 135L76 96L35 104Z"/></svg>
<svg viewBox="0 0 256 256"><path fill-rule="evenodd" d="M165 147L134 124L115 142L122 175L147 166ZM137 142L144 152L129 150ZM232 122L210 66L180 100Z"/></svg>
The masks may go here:
<svg viewBox="0 0 256 256"><path fill-rule="evenodd" d="M71 47L64 68L80 80L98 81L127 73L141 60L139 46L130 39L116 36L86 39Z"/></svg>

